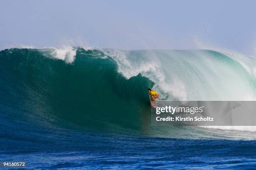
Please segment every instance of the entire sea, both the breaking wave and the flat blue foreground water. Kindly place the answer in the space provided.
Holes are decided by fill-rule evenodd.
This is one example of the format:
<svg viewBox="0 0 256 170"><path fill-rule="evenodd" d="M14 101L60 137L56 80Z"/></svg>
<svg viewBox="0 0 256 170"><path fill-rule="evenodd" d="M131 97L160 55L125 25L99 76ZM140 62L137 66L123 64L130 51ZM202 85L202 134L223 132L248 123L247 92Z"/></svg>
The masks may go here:
<svg viewBox="0 0 256 170"><path fill-rule="evenodd" d="M152 126L147 95L151 87L168 100L252 100L253 59L70 47L6 49L0 60L0 161L28 169L255 168L254 127Z"/></svg>

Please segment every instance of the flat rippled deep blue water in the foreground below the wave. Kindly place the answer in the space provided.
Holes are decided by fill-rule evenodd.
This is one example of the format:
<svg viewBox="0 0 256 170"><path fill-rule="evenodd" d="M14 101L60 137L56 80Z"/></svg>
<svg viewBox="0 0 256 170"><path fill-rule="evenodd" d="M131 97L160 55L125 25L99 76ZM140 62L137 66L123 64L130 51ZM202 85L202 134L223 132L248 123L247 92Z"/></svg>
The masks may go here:
<svg viewBox="0 0 256 170"><path fill-rule="evenodd" d="M256 163L254 140L59 133L1 140L1 160L26 160L27 168L36 169L253 169Z"/></svg>

